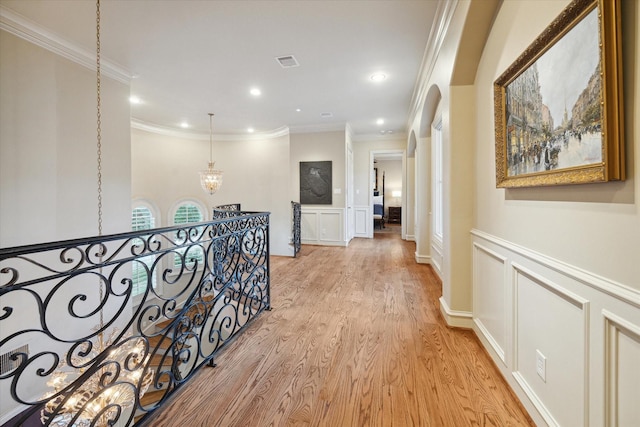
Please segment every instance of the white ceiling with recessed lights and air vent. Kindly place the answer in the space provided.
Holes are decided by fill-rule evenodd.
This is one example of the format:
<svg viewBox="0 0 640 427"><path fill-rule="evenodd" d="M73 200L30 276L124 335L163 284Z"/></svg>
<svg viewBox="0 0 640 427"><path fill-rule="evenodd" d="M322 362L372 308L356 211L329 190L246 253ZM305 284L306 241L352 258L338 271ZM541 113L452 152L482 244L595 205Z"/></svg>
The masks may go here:
<svg viewBox="0 0 640 427"><path fill-rule="evenodd" d="M216 134L406 131L436 0L102 0L103 58L132 77L132 119ZM0 0L95 52L94 0ZM283 69L277 56L294 55ZM370 80L383 72L381 83ZM260 97L249 94L259 87ZM300 108L300 112L296 112ZM331 118L321 117L330 112ZM377 125L378 118L384 119Z"/></svg>

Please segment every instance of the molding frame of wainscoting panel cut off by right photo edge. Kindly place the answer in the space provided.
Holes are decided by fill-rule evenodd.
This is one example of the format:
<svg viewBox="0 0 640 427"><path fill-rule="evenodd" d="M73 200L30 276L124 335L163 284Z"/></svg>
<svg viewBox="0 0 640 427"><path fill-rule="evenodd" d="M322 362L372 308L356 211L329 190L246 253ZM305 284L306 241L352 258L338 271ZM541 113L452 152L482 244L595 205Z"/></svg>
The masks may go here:
<svg viewBox="0 0 640 427"><path fill-rule="evenodd" d="M620 375L618 336L624 334L640 343L640 325L635 325L608 310L602 310L602 316L605 324L605 425L614 427L620 425L618 420L618 378Z"/></svg>

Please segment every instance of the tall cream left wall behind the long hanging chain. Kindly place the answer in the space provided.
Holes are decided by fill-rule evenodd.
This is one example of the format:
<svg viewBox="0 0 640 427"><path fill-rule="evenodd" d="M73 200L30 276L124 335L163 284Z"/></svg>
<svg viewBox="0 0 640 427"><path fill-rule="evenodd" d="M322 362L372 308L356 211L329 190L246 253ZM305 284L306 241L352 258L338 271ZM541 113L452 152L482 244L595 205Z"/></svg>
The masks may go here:
<svg viewBox="0 0 640 427"><path fill-rule="evenodd" d="M0 31L0 246L98 234L95 72ZM128 86L102 79L103 233L130 226Z"/></svg>

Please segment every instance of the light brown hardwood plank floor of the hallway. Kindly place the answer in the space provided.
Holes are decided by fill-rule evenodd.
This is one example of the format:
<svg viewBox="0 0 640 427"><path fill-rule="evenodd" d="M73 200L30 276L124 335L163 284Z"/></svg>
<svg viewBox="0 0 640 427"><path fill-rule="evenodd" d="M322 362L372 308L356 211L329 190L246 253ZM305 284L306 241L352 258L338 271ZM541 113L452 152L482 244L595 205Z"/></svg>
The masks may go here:
<svg viewBox="0 0 640 427"><path fill-rule="evenodd" d="M145 425L533 425L414 252L382 234L272 257L273 311Z"/></svg>

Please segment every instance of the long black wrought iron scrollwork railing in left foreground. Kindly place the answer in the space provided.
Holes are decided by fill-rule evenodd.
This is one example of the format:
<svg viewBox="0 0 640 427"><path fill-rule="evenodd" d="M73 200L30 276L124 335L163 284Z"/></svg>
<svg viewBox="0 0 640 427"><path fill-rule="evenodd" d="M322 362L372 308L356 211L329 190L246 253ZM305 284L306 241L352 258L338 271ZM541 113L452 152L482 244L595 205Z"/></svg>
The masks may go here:
<svg viewBox="0 0 640 427"><path fill-rule="evenodd" d="M134 425L213 365L270 308L269 214L220 216L0 249L6 425Z"/></svg>

